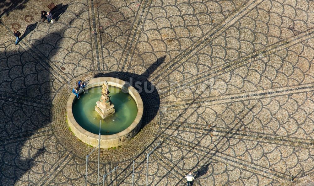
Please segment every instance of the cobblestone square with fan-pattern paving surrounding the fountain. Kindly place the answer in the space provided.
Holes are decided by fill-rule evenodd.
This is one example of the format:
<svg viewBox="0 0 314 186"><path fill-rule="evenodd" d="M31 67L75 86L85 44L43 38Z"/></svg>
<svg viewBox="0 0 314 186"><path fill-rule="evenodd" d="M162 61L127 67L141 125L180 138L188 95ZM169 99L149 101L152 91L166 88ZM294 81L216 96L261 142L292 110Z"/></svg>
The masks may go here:
<svg viewBox="0 0 314 186"><path fill-rule="evenodd" d="M142 83L144 102L140 132L101 149L101 184L112 171L105 185L131 185L134 160L145 185L158 143L148 185L185 185L189 171L194 186L314 182L314 1L55 0L48 24L50 3L0 18L0 185L85 184L93 148L65 105L100 76Z"/></svg>

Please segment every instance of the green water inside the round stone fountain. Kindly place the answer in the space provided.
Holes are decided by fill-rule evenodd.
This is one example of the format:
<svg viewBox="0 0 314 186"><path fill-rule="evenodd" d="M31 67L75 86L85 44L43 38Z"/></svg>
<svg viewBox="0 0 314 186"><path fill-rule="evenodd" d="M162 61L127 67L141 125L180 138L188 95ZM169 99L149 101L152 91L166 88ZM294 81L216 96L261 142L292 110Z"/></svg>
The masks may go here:
<svg viewBox="0 0 314 186"><path fill-rule="evenodd" d="M85 90L72 105L72 112L76 122L85 130L98 134L101 120L101 135L111 135L121 132L129 127L137 115L137 106L128 93L121 88L109 86L110 100L114 105L115 113L104 120L95 111L96 102L100 100L101 86Z"/></svg>

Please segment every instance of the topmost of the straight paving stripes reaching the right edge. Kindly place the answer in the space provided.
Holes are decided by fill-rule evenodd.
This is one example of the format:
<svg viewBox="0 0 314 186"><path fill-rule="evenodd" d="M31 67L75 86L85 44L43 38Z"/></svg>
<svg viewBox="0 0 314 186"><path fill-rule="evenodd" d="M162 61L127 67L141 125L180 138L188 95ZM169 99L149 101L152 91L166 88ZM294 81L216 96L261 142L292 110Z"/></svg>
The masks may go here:
<svg viewBox="0 0 314 186"><path fill-rule="evenodd" d="M264 56L270 55L272 53L275 53L279 50L282 50L284 48L288 48L290 46L296 45L304 40L307 40L314 35L314 29L307 30L306 32L297 35L295 37L291 37L289 39L280 41L276 44L273 44L271 46L266 47L263 50L258 50L250 55L247 55L245 57L242 57L240 59L237 59L235 61L223 64L221 66L215 67L209 72L202 72L198 73L196 76L190 77L188 79L185 79L181 82L176 82L174 85L162 88L160 89L160 97L166 97L173 93L176 93L179 90L182 90L184 88L187 88L189 86L193 86L195 84L198 84L200 82L203 82L204 80L208 80L212 77L216 77L218 75L221 75L226 72L230 72L231 70L234 70L236 68L239 68L240 66L243 66L247 63L252 63L253 61L256 61Z"/></svg>

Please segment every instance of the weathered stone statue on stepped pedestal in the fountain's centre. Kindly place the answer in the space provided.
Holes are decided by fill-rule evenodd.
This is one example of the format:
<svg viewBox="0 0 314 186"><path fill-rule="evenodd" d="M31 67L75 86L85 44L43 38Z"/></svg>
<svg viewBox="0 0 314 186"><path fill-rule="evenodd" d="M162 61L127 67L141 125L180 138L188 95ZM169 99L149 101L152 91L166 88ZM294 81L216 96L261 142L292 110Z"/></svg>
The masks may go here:
<svg viewBox="0 0 314 186"><path fill-rule="evenodd" d="M109 94L110 92L108 90L108 82L104 81L102 84L100 101L97 101L95 106L95 111L102 119L115 113L115 109L113 108L113 104L110 101Z"/></svg>

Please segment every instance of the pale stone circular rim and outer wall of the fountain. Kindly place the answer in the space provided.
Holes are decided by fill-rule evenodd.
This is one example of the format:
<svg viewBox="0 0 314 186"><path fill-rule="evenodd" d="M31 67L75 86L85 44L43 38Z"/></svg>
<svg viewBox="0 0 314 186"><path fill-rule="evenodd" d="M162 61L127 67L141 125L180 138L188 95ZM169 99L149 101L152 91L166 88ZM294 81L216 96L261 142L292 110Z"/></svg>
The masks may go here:
<svg viewBox="0 0 314 186"><path fill-rule="evenodd" d="M100 135L100 147L101 148L119 146L119 145L122 145L123 142L128 141L140 129L140 126L142 123L142 116L143 116L143 100L141 96L139 95L139 93L137 92L137 90L133 88L132 85L130 85L128 82L125 82L123 80L113 78L113 77L97 77L97 78L90 79L86 83L85 89L101 86L104 81L107 81L109 86L118 87L118 88L121 88L122 90L127 91L135 100L138 113L134 121L132 122L132 124L129 127L127 127L125 130L118 132L116 134ZM89 145L92 145L92 146L98 146L99 135L91 133L83 129L74 119L74 116L72 113L72 105L75 99L76 99L76 96L73 93L71 93L68 98L67 105L66 105L68 125L70 126L74 135L77 136L81 141L88 143Z"/></svg>

